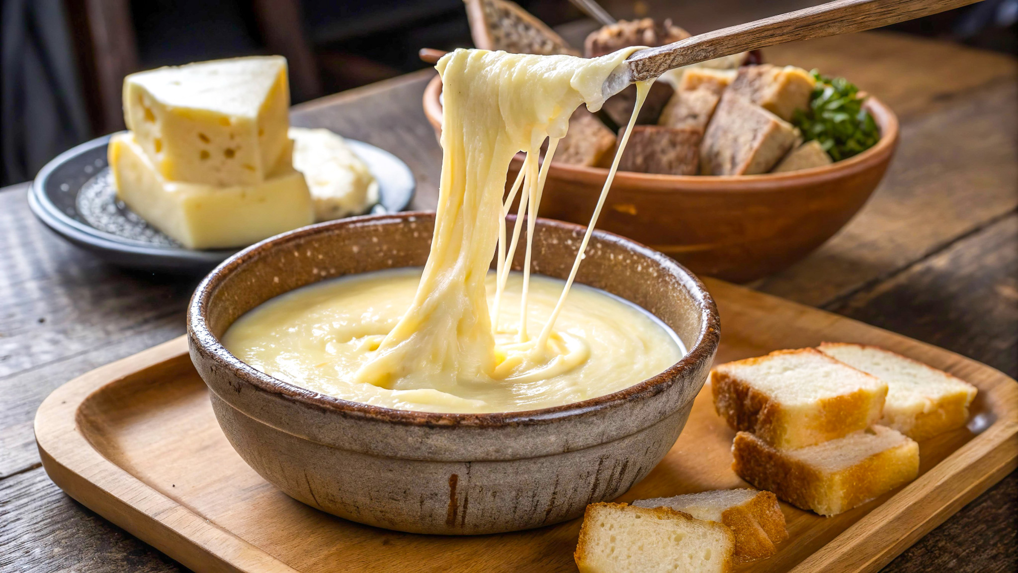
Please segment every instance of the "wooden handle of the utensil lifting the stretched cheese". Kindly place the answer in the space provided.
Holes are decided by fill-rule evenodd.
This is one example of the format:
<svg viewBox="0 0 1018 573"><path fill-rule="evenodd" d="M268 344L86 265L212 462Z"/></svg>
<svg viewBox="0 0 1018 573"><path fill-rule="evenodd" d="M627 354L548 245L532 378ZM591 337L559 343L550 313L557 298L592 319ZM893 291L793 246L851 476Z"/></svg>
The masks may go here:
<svg viewBox="0 0 1018 573"><path fill-rule="evenodd" d="M836 0L700 34L660 48L641 50L625 61L629 70L628 80L649 80L681 65L786 42L872 30L974 4L976 1Z"/></svg>

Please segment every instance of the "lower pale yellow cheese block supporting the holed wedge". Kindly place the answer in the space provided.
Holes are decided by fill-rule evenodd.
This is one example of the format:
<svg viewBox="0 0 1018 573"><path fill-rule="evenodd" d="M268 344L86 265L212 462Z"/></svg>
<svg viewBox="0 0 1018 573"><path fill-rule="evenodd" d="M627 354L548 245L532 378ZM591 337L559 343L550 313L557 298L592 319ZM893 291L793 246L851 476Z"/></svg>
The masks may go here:
<svg viewBox="0 0 1018 573"><path fill-rule="evenodd" d="M250 186L168 181L131 134L110 140L119 197L131 211L188 249L243 247L314 220L304 176L290 169Z"/></svg>

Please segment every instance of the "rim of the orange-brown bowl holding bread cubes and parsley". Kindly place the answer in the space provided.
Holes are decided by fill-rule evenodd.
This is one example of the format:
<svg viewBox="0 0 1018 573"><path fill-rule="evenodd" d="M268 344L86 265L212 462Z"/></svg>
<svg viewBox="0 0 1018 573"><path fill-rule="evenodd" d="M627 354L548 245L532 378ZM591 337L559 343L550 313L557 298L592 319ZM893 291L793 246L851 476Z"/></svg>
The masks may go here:
<svg viewBox="0 0 1018 573"><path fill-rule="evenodd" d="M422 106L428 121L437 134L441 133L442 128L443 111L442 103L439 100L441 93L442 76L435 75L425 88ZM865 93L863 92L863 94ZM671 175L620 170L615 174L612 187L639 188L639 191L644 193L675 192L676 187L681 187L683 192L770 192L792 185L823 184L865 170L894 151L900 129L898 117L894 111L875 96L865 95L866 100L863 103L863 108L873 116L881 132L881 139L869 149L848 159L808 169L754 175ZM522 161L522 159L517 154L513 161ZM599 186L604 184L607 176L608 169L605 167L587 167L553 161L551 169L549 169L549 177L569 178Z"/></svg>

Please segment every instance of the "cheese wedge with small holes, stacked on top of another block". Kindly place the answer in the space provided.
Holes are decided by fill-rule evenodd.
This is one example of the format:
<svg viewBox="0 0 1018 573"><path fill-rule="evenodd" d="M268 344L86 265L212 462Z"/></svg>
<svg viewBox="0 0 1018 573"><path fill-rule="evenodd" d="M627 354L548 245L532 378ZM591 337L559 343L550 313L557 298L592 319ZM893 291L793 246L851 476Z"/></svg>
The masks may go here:
<svg viewBox="0 0 1018 573"><path fill-rule="evenodd" d="M254 56L124 77L124 121L159 174L220 187L290 170L286 58Z"/></svg>

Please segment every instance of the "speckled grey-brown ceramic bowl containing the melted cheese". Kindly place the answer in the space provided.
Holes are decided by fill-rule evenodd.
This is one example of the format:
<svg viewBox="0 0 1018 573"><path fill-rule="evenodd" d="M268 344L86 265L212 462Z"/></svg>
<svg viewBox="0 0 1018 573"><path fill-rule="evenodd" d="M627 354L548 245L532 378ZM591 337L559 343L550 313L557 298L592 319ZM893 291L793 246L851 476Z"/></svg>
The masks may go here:
<svg viewBox="0 0 1018 573"><path fill-rule="evenodd" d="M369 406L277 380L220 343L240 315L288 291L423 265L434 222L434 214L400 213L300 228L237 253L202 281L188 307L190 356L234 449L296 500L417 533L540 527L625 492L675 442L719 338L718 312L703 284L632 241L595 232L577 280L657 315L689 352L653 378L576 404L493 414ZM533 269L567 276L582 232L539 220Z"/></svg>

